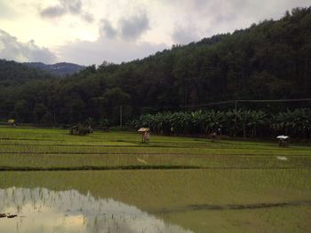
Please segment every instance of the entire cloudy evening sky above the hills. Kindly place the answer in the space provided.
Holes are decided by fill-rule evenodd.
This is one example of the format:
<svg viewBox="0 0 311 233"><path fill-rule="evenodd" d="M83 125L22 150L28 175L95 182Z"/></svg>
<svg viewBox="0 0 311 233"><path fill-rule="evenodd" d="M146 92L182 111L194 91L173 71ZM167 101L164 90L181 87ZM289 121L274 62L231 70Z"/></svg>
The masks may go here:
<svg viewBox="0 0 311 233"><path fill-rule="evenodd" d="M310 5L311 0L0 0L0 58L121 63Z"/></svg>

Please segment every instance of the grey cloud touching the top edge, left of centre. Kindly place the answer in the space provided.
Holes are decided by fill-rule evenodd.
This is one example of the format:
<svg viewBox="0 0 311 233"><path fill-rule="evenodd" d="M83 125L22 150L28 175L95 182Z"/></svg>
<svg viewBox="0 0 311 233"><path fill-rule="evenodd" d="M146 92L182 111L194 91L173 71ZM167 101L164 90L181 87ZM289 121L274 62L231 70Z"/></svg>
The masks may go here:
<svg viewBox="0 0 311 233"><path fill-rule="evenodd" d="M60 4L52 5L40 11L40 15L45 18L57 18L65 14L79 15L86 22L92 23L93 16L89 12L83 12L81 0L59 0Z"/></svg>

